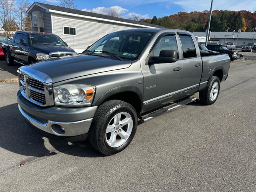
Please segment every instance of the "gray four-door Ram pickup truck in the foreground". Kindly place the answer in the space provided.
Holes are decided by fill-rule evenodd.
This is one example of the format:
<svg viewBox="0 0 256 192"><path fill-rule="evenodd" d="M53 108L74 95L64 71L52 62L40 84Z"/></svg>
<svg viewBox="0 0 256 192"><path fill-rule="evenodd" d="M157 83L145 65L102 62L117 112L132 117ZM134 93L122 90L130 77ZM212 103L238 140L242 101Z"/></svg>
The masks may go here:
<svg viewBox="0 0 256 192"><path fill-rule="evenodd" d="M82 54L20 67L18 108L37 130L73 141L88 136L112 155L130 144L138 119L194 102L196 92L213 104L229 68L227 54L200 55L190 32L124 30Z"/></svg>

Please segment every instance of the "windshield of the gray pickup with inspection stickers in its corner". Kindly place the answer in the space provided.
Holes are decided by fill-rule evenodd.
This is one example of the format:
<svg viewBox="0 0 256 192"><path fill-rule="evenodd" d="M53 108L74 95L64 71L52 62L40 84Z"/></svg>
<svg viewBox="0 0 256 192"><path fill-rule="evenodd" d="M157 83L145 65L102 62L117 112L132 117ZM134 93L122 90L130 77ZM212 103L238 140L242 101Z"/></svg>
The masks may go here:
<svg viewBox="0 0 256 192"><path fill-rule="evenodd" d="M152 34L136 31L114 32L98 40L86 51L90 54L114 54L123 60L136 60Z"/></svg>

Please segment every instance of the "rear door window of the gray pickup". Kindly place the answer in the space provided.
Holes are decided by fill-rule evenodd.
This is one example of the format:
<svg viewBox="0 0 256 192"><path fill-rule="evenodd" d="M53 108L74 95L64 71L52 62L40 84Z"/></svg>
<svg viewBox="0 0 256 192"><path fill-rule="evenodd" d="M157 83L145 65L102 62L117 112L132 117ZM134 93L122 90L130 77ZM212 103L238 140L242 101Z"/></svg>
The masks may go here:
<svg viewBox="0 0 256 192"><path fill-rule="evenodd" d="M183 58L196 57L196 47L191 36L179 35L182 44Z"/></svg>

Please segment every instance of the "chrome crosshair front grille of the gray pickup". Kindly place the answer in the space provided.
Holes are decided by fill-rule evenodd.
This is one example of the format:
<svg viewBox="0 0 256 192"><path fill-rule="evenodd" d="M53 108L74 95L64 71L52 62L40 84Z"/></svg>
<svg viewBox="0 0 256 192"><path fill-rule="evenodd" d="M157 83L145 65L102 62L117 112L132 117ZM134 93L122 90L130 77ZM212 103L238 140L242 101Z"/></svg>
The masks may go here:
<svg viewBox="0 0 256 192"><path fill-rule="evenodd" d="M20 92L38 106L54 105L52 81L44 73L22 66L18 69Z"/></svg>

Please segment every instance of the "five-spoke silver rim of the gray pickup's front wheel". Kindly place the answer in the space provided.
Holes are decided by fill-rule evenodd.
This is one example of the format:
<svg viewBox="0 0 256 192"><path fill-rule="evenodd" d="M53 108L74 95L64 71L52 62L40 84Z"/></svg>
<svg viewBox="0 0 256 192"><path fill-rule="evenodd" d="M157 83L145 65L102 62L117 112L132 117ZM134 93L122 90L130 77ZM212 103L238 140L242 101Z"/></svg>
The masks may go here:
<svg viewBox="0 0 256 192"><path fill-rule="evenodd" d="M105 139L110 147L123 145L132 133L132 116L126 112L116 114L108 123Z"/></svg>

